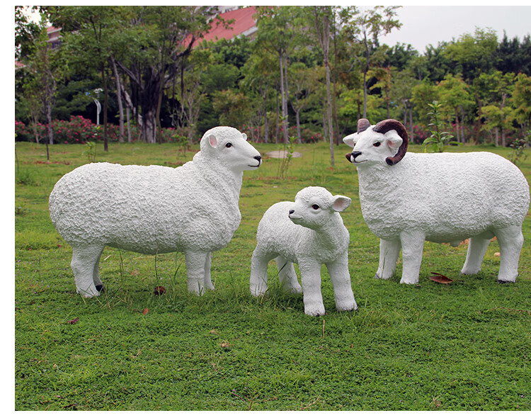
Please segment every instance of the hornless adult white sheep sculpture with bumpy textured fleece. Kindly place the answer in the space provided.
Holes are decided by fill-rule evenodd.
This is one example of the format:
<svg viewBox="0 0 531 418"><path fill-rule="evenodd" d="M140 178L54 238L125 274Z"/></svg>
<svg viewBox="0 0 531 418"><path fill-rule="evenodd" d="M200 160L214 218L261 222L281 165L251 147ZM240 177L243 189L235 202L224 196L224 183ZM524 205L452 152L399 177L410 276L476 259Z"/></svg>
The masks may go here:
<svg viewBox="0 0 531 418"><path fill-rule="evenodd" d="M220 126L205 132L200 151L177 168L93 163L65 174L50 194L50 218L72 246L77 292L99 295L105 246L183 252L188 290L213 289L211 253L239 227L243 171L261 161L244 133Z"/></svg>

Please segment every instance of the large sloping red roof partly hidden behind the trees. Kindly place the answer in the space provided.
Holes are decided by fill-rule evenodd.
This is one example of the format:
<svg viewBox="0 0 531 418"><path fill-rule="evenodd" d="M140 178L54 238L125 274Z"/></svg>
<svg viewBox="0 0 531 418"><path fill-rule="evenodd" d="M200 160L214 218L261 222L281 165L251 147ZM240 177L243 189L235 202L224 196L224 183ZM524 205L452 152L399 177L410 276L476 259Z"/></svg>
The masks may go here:
<svg viewBox="0 0 531 418"><path fill-rule="evenodd" d="M225 28L223 24L220 24L218 16L214 18L214 21L210 24L210 30L203 35L202 39L196 40L195 45L202 42L202 40L219 40L236 38L236 36L246 33L248 30L256 27L256 21L253 15L256 13L255 6L248 6L242 9L236 9L221 13L218 16L223 18L225 22L232 21L229 24L229 28Z"/></svg>

